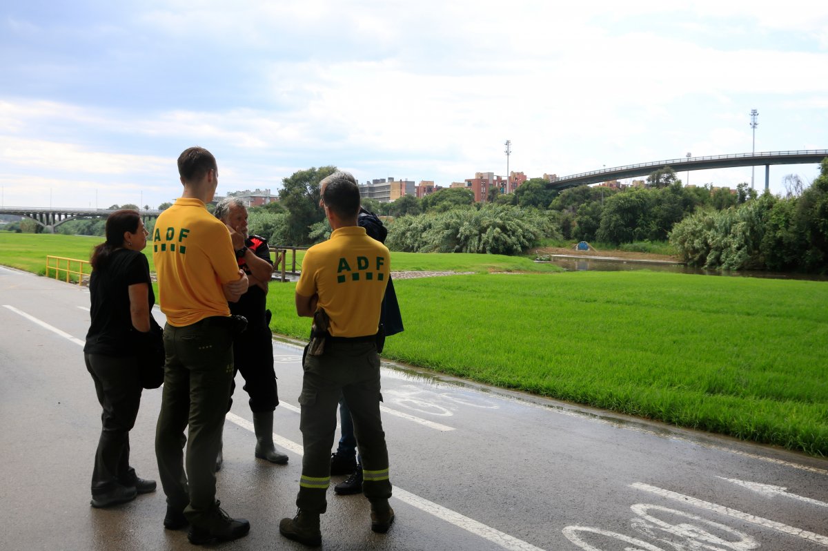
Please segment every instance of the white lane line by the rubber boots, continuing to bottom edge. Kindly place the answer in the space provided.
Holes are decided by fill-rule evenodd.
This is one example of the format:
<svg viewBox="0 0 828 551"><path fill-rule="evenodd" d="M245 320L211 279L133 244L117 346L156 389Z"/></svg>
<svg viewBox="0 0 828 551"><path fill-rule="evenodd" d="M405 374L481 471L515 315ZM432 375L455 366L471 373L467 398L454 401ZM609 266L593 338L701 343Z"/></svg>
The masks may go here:
<svg viewBox="0 0 828 551"><path fill-rule="evenodd" d="M279 404L282 404L282 402L280 401ZM255 431L253 430L253 423L249 422L247 419L241 418L235 413L228 413L227 419L231 423L235 423L239 427L245 428L255 434ZM304 453L303 448L299 444L292 442L287 438L281 437L278 434L273 434L273 442L277 444L277 446L290 450L299 456L302 456ZM394 486L392 492L393 497L397 500L400 500L408 505L412 505L413 507L424 511L429 515L436 516L440 520L445 520L445 522L448 522L449 524L454 524L456 527L464 529L470 534L474 534L483 539L488 539L493 544L497 544L503 549L508 549L508 551L543 551L543 549L525 542L522 539L517 539L509 534L490 528L486 524L480 523L477 520L469 519L469 517L460 515L460 513L456 511L446 509L442 505L437 505L433 501L429 501L419 495L412 494L410 491L405 491L399 486Z"/></svg>

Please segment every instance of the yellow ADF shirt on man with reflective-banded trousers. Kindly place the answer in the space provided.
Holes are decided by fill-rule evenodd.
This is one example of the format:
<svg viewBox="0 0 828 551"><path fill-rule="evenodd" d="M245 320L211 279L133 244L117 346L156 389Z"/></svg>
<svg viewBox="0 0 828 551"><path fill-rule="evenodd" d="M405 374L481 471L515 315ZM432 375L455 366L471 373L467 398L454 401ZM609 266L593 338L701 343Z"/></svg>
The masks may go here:
<svg viewBox="0 0 828 551"><path fill-rule="evenodd" d="M319 295L332 336L374 335L390 273L388 248L364 228L348 226L307 250L296 292Z"/></svg>

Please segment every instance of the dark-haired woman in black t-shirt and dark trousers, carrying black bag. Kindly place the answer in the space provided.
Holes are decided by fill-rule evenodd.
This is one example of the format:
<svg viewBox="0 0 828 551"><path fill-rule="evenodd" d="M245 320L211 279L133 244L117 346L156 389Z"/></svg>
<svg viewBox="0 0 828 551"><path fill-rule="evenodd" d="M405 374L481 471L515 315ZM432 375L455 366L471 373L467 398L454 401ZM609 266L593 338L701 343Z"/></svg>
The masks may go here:
<svg viewBox="0 0 828 551"><path fill-rule="evenodd" d="M135 210L118 210L106 221L106 241L92 252L89 279L92 322L84 360L103 408L92 473L92 506L107 507L155 491L129 466L129 431L135 424L142 384L136 347L150 331L155 303L149 263L141 251L147 230Z"/></svg>

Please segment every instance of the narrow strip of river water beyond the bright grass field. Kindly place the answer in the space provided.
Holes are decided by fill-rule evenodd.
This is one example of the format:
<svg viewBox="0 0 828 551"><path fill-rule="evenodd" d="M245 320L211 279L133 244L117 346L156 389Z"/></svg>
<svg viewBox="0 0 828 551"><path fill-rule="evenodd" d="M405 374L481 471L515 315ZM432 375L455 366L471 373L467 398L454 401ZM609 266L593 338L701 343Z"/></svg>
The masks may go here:
<svg viewBox="0 0 828 551"><path fill-rule="evenodd" d="M633 260L573 259L553 256L550 263L561 266L561 268L566 269L568 272L620 272L628 270L650 270L652 272L696 273L700 275L732 276L739 278L806 279L810 281L828 281L828 276L821 276L813 273L782 273L759 270L728 272L720 270L705 270L703 268L691 268L684 264L641 262Z"/></svg>

